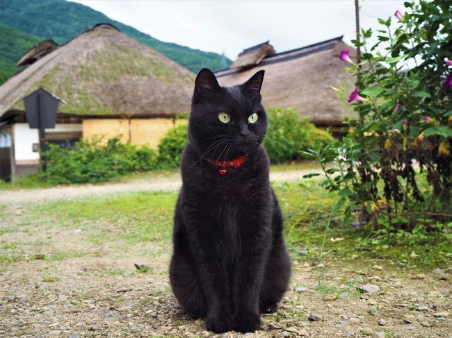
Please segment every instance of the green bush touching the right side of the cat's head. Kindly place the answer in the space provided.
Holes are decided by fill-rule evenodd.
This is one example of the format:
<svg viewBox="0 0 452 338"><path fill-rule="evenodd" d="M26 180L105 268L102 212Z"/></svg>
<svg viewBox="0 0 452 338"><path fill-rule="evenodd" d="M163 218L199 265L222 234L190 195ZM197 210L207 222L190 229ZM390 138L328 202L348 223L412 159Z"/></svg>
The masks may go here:
<svg viewBox="0 0 452 338"><path fill-rule="evenodd" d="M333 140L327 131L316 128L307 119L301 120L293 109L271 108L267 114L268 130L263 145L273 162L300 160L300 153L314 141L328 144Z"/></svg>

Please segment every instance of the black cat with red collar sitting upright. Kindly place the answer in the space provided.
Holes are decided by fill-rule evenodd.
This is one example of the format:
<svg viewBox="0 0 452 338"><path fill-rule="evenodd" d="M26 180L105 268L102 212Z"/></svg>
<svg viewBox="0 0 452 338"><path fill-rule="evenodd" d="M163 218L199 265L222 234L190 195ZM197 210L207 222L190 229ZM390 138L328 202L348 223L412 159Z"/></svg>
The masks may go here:
<svg viewBox="0 0 452 338"><path fill-rule="evenodd" d="M195 81L170 281L180 305L214 332L259 330L259 313L276 312L291 273L260 145L263 80L258 71L242 85L220 87L202 69Z"/></svg>

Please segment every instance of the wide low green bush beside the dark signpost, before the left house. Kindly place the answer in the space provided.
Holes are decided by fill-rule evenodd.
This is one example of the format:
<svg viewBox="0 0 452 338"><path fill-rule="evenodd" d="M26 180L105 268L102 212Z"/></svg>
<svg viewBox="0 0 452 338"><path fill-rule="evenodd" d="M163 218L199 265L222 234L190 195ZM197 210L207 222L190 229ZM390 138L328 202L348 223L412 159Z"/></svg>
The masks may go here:
<svg viewBox="0 0 452 338"><path fill-rule="evenodd" d="M46 151L47 171L38 177L51 184L102 182L134 171L156 167L156 152L148 146L122 144L120 137L79 141L72 148L50 145Z"/></svg>

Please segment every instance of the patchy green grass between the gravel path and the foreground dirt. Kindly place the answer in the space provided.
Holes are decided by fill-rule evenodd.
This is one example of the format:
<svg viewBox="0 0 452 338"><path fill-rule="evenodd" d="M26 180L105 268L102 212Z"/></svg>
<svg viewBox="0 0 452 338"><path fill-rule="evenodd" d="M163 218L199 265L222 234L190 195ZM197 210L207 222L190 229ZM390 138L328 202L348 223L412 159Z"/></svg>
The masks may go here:
<svg viewBox="0 0 452 338"><path fill-rule="evenodd" d="M394 238L372 232L373 228L355 230L352 226L341 226L340 213L333 215L328 225L330 210L338 199L335 194L318 187L313 180L290 184L277 182L273 187L284 213L286 242L293 260L379 258L391 260L391 264L407 264L414 269L432 269L451 263L449 234L403 233ZM162 250L169 252L176 198L177 192L139 192L27 205L19 226L4 226L0 234L27 233L36 226L51 229L58 224L61 230L88 232L90 243L87 245L104 245L118 254L127 251L129 246L149 242L160 243ZM0 217L7 217L7 210L5 205L0 205ZM121 246L116 247L119 242ZM26 246L22 240L2 245L0 262L29 260L33 255L42 255L31 253L11 257L8 250L4 250ZM51 253L46 259L64 259L65 255L72 257L82 253L79 250Z"/></svg>

